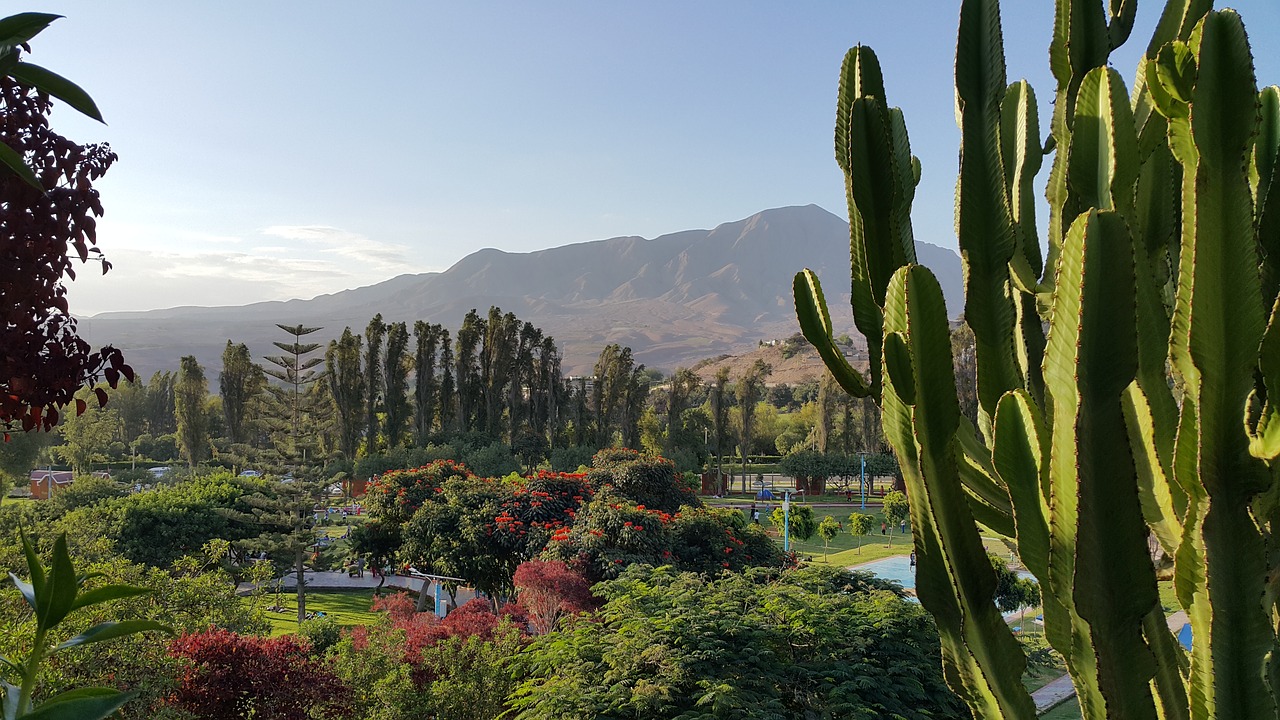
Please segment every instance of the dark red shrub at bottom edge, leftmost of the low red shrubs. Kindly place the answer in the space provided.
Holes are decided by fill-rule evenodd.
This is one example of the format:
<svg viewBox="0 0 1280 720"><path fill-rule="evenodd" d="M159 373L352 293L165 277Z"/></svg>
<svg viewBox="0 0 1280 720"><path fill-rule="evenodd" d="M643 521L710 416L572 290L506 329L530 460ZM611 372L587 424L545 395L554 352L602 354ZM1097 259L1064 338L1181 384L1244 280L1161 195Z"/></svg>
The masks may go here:
<svg viewBox="0 0 1280 720"><path fill-rule="evenodd" d="M169 655L189 660L173 705L196 717L306 720L349 710L348 689L296 635L260 638L209 629L180 635Z"/></svg>

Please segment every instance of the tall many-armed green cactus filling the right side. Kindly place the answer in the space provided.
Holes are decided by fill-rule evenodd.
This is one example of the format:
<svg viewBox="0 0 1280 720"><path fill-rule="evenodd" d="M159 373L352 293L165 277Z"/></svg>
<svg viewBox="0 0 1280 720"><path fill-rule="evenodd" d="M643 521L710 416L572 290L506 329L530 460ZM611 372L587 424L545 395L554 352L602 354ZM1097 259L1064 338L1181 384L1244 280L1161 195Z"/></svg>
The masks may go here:
<svg viewBox="0 0 1280 720"><path fill-rule="evenodd" d="M1034 714L983 527L1039 579L1085 717L1277 717L1280 90L1258 92L1243 22L1208 0L1169 0L1132 90L1108 58L1135 0L1056 10L1044 143L1033 90L1006 85L998 1L960 12L956 233L978 427L957 409L942 293L914 264L919 163L867 47L845 59L836 155L869 377L835 350L809 270L800 325L845 389L883 409L920 600L975 714ZM1172 559L1189 655L1149 541Z"/></svg>

